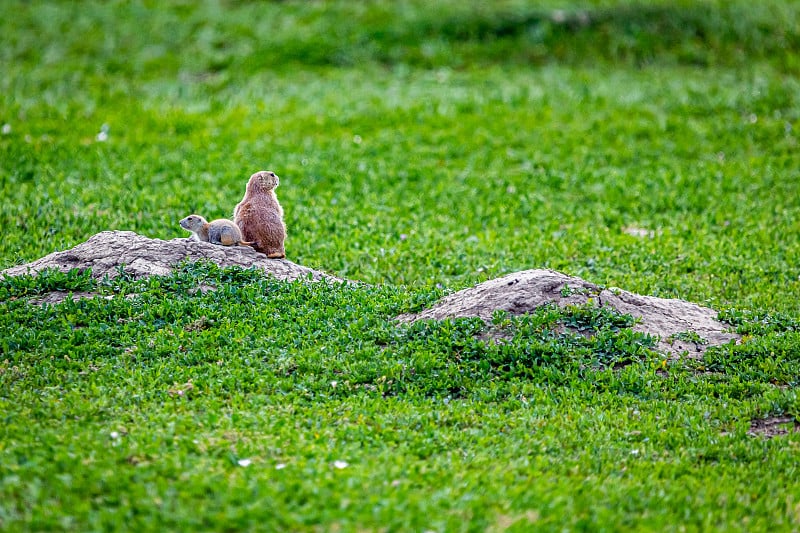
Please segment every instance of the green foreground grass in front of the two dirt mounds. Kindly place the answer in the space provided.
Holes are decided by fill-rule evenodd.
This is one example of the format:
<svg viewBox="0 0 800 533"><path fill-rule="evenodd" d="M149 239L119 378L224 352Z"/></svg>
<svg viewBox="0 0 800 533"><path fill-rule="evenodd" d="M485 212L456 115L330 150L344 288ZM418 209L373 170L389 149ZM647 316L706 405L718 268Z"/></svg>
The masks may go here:
<svg viewBox="0 0 800 533"><path fill-rule="evenodd" d="M200 295L201 284L217 290ZM53 288L107 297L27 303ZM0 290L10 526L449 531L508 515L543 528L763 529L795 519L796 445L746 435L751 417L800 407L775 387L800 375L800 338L786 329L668 364L636 334L609 349L609 333L632 320L608 311L498 315L506 343L476 337L487 330L476 319L400 327L392 316L435 293L390 286L187 266L167 279L48 274ZM555 334L559 323L598 335Z"/></svg>

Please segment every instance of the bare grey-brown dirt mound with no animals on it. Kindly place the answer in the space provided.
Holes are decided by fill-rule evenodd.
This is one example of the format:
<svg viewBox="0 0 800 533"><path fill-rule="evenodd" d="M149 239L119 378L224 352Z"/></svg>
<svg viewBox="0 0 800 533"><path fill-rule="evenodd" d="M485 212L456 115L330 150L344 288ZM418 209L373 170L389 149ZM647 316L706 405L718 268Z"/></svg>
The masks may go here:
<svg viewBox="0 0 800 533"><path fill-rule="evenodd" d="M490 322L496 310L511 315L531 313L546 304L611 307L640 319L633 329L658 336L657 349L672 357L688 352L700 357L710 346L741 336L717 320L717 312L683 300L641 296L621 289L604 289L581 278L553 270L525 270L450 294L430 309L401 315L401 322L477 316Z"/></svg>

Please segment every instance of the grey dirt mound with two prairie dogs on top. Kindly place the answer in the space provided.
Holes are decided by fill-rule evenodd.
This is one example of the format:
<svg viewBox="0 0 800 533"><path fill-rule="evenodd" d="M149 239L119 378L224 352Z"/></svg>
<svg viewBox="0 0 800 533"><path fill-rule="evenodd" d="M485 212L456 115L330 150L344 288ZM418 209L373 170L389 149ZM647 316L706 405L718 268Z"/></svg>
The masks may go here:
<svg viewBox="0 0 800 533"><path fill-rule="evenodd" d="M2 273L19 276L34 274L47 268L56 268L62 272L73 268L91 268L95 278L113 278L119 275L119 268L124 266L127 275L138 279L167 275L184 259L207 260L223 267L256 267L281 280L307 278L310 274L315 281L341 281L285 259L267 259L266 255L249 246L217 246L190 239L163 241L132 231L103 231L74 248L54 252L32 263L3 270Z"/></svg>

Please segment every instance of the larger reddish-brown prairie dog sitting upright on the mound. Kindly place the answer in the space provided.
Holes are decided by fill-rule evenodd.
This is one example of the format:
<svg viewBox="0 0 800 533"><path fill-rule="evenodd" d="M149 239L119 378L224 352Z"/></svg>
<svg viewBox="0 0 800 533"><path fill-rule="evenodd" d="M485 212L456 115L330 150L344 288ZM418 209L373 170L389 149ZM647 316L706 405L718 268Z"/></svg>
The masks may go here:
<svg viewBox="0 0 800 533"><path fill-rule="evenodd" d="M280 179L272 171L256 172L247 181L244 198L233 210L233 221L242 230L242 236L270 259L286 257L283 247L286 224L283 208L275 195L279 183Z"/></svg>

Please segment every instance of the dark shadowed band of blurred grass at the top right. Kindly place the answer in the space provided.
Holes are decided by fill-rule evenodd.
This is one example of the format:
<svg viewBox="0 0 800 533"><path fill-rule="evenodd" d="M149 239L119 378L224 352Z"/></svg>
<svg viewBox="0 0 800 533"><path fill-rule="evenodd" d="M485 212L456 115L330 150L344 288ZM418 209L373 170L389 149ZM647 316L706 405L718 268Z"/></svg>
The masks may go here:
<svg viewBox="0 0 800 533"><path fill-rule="evenodd" d="M370 40L388 45L380 54L386 63L601 59L710 65L770 58L791 69L798 66L793 58L800 49L800 32L791 22L797 19L796 10L789 11L776 17L770 6L735 2L725 6L632 4L573 11L474 6L438 17L427 11L423 19L388 32L387 28L373 29ZM437 53L435 42L449 46L441 46ZM469 44L480 49L462 49Z"/></svg>

